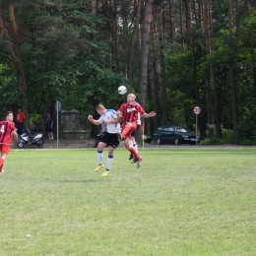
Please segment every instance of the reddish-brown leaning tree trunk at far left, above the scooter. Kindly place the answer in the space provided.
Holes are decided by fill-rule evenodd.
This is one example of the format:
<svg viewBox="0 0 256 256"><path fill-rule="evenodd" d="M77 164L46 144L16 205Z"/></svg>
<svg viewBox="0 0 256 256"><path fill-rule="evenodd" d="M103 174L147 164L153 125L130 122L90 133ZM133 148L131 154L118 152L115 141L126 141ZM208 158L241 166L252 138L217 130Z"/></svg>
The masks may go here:
<svg viewBox="0 0 256 256"><path fill-rule="evenodd" d="M11 35L12 43L13 43L12 55L13 55L13 59L15 60L14 65L16 68L16 76L17 76L17 82L18 82L18 92L21 100L21 108L26 115L25 125L26 127L30 128L30 116L29 116L28 101L27 101L27 84L25 80L22 59L20 54L19 32L17 28L16 19L15 19L14 3L11 3L9 5L9 20L10 20L10 26L11 26L11 32L12 32L12 35Z"/></svg>

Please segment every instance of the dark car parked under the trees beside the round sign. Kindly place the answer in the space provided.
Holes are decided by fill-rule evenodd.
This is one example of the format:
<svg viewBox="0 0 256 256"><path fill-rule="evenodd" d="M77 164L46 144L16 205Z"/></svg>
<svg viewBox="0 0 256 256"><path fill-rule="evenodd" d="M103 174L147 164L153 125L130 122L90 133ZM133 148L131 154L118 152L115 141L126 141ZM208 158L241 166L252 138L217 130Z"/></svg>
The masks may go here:
<svg viewBox="0 0 256 256"><path fill-rule="evenodd" d="M153 139L157 141L158 145L162 143L172 143L174 145L199 144L201 142L200 137L188 128L172 125L160 126L154 133Z"/></svg>

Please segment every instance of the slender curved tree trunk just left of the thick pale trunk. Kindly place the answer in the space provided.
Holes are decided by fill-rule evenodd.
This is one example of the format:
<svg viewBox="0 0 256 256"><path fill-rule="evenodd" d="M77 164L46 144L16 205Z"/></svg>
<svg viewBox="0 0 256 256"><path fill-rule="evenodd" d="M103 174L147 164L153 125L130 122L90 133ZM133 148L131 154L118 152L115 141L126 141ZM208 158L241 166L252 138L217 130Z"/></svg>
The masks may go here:
<svg viewBox="0 0 256 256"><path fill-rule="evenodd" d="M139 30L139 24L140 24L140 18L141 18L141 9L142 9L142 0L138 0L138 5L136 7L135 23L134 23L134 27L133 27L132 36L131 36L131 39L130 39L129 52L128 52L128 80L129 80L129 83L130 83L131 87L133 87L134 44L135 44L135 39L136 39L137 32ZM139 42L139 38L137 38L137 39L138 39L138 42Z"/></svg>

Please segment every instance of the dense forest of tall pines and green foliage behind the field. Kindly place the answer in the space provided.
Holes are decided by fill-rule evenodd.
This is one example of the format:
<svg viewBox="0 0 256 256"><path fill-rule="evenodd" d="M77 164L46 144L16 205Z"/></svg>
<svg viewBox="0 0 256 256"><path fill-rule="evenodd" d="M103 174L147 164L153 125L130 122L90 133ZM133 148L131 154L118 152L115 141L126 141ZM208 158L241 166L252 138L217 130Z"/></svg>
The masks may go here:
<svg viewBox="0 0 256 256"><path fill-rule="evenodd" d="M218 144L256 144L255 0L0 0L0 109L56 123L55 103L117 109L128 92L161 124ZM63 128L60 124L60 137ZM92 128L92 136L96 127Z"/></svg>

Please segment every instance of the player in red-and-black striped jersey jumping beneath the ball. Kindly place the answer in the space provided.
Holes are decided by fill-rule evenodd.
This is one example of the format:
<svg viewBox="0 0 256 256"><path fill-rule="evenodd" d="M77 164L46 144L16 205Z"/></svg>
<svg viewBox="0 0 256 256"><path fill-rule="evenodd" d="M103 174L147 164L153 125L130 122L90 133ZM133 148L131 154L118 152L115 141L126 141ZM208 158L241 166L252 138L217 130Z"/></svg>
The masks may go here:
<svg viewBox="0 0 256 256"><path fill-rule="evenodd" d="M136 150L132 148L130 145L131 133L136 131L137 129L139 118L138 113L140 113L140 116L142 117L149 118L156 116L156 112L153 111L150 113L146 113L142 106L135 101L135 99L136 96L134 94L129 94L127 96L127 102L121 104L121 106L117 110L117 116L119 117L119 121L121 119L122 123L121 137L122 140L124 140L124 145L126 149L134 156L134 162L137 162L137 167L139 168L141 165L142 158L138 155Z"/></svg>

